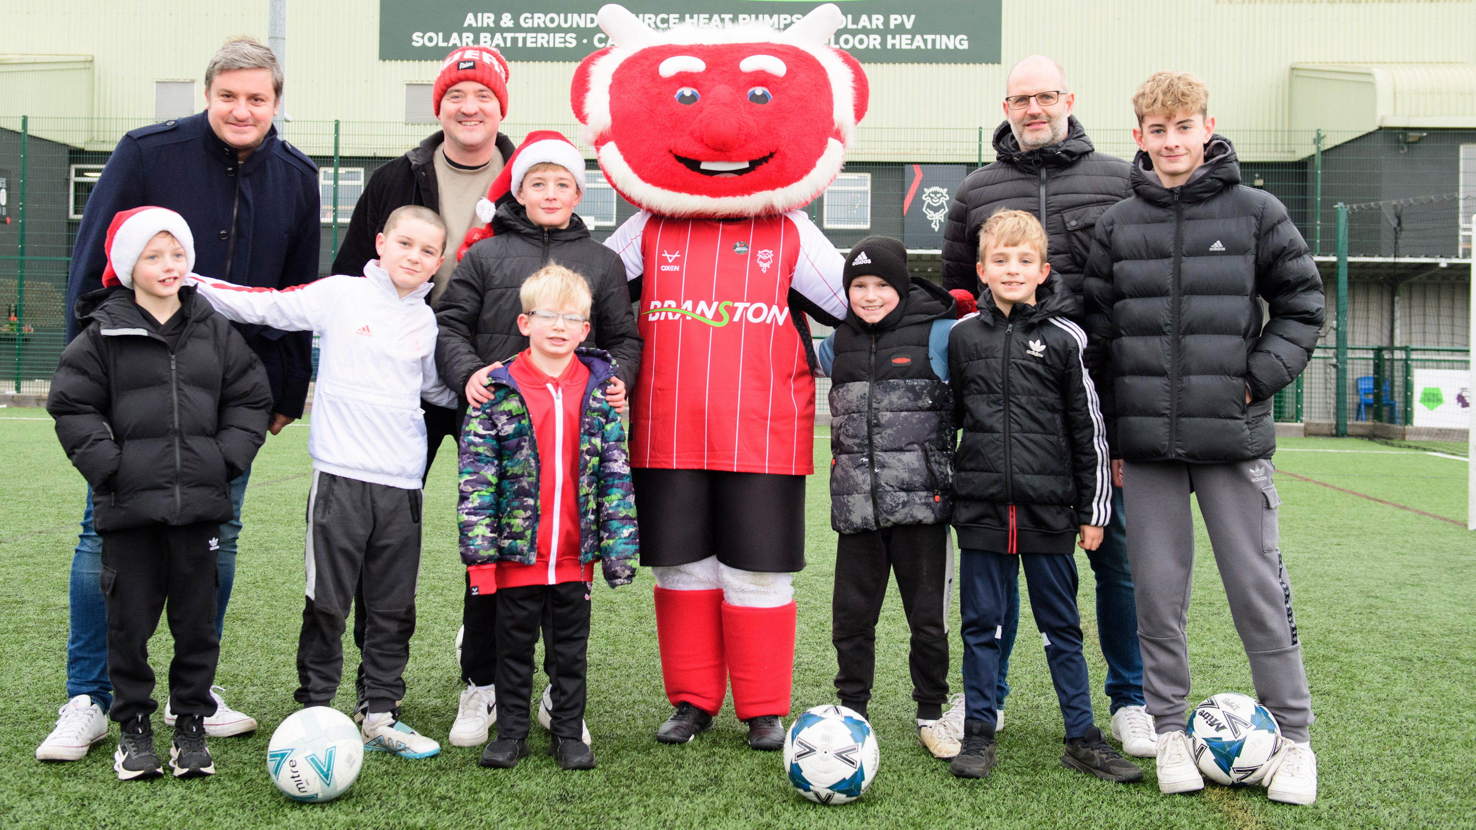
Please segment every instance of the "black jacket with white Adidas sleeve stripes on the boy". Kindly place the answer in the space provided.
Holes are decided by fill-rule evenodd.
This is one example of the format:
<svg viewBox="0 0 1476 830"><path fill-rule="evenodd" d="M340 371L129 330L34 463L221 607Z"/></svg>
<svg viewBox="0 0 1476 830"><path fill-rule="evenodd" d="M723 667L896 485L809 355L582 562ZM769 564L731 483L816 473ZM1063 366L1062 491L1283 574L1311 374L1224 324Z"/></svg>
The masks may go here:
<svg viewBox="0 0 1476 830"><path fill-rule="evenodd" d="M1111 517L1106 425L1082 363L1076 296L1054 279L1005 317L987 296L948 343L958 545L1072 553L1080 525Z"/></svg>

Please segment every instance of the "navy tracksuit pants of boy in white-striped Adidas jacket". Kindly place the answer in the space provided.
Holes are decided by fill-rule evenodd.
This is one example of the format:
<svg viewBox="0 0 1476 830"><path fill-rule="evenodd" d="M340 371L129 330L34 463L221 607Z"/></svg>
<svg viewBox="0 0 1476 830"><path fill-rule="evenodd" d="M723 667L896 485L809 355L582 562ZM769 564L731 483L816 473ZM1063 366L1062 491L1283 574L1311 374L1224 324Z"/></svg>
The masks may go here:
<svg viewBox="0 0 1476 830"><path fill-rule="evenodd" d="M999 643L1010 601L1024 566L1035 627L1045 643L1066 737L1082 737L1092 725L1091 686L1082 656L1082 621L1076 612L1076 559L1063 553L1004 554L962 550L959 612L964 622L965 719L995 722Z"/></svg>

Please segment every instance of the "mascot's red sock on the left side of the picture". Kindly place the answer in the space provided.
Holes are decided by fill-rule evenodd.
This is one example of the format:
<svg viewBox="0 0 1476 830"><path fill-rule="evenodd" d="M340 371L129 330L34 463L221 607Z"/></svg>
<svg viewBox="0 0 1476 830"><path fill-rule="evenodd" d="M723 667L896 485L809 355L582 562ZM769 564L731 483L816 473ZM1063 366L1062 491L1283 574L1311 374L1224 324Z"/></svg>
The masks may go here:
<svg viewBox="0 0 1476 830"><path fill-rule="evenodd" d="M686 700L716 715L728 696L723 649L723 591L655 590L655 638L661 680L673 706Z"/></svg>

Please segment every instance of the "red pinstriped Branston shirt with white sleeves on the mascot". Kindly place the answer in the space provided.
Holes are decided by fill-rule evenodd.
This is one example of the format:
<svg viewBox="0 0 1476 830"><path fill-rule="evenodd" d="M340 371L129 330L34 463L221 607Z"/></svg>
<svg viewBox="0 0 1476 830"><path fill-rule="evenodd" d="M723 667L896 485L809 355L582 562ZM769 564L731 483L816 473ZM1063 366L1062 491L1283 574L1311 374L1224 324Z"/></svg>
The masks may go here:
<svg viewBox="0 0 1476 830"><path fill-rule="evenodd" d="M813 473L815 379L787 298L846 315L846 261L825 234L799 211L641 212L605 245L644 277L630 466Z"/></svg>

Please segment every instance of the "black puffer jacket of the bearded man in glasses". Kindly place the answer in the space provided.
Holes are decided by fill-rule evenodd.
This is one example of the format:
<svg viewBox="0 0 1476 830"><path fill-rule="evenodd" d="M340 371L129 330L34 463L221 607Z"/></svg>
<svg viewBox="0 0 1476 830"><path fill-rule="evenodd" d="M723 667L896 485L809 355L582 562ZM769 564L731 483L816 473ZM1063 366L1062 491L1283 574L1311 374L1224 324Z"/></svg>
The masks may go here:
<svg viewBox="0 0 1476 830"><path fill-rule="evenodd" d="M1098 152L1086 130L1067 118L1066 139L1021 150L1010 122L995 128L995 161L970 172L943 229L943 287L979 295L979 229L995 211L1029 211L1045 226L1052 276L1077 296L1097 218L1126 199L1129 165Z"/></svg>

